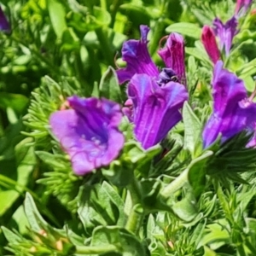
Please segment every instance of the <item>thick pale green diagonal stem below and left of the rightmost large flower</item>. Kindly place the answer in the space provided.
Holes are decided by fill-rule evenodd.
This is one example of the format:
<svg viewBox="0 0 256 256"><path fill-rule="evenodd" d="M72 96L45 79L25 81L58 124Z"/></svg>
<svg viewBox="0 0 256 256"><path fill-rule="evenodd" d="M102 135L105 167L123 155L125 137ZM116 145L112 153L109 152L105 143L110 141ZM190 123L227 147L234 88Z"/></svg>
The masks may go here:
<svg viewBox="0 0 256 256"><path fill-rule="evenodd" d="M183 185L188 182L188 173L189 168L186 168L172 183L167 185L166 188L160 192L160 195L167 199L178 189L181 189Z"/></svg>

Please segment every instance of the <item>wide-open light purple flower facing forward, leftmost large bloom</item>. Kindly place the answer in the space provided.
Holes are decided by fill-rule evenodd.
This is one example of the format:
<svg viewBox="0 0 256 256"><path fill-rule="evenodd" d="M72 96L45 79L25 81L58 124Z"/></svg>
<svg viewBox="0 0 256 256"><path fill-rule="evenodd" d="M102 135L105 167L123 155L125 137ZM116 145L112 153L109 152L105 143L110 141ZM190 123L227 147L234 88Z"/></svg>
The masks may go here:
<svg viewBox="0 0 256 256"><path fill-rule="evenodd" d="M71 109L52 113L51 130L69 154L73 172L84 175L108 166L123 148L125 138L118 125L119 105L106 99L67 98Z"/></svg>

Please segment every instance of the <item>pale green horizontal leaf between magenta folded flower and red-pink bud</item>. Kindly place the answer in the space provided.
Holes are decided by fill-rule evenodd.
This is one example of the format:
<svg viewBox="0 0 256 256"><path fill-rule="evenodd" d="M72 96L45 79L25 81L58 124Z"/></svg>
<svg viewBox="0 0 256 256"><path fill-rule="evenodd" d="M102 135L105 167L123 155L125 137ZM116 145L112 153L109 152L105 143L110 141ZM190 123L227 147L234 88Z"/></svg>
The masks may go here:
<svg viewBox="0 0 256 256"><path fill-rule="evenodd" d="M199 39L201 37L201 27L189 22L178 22L167 26L166 32L178 32L184 36L195 39Z"/></svg>

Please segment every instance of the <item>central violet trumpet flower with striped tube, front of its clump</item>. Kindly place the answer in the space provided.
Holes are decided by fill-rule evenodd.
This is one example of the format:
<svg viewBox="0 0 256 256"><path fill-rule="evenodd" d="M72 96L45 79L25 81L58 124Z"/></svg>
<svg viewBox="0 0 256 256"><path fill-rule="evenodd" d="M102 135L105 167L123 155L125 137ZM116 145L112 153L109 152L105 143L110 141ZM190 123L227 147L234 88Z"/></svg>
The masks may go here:
<svg viewBox="0 0 256 256"><path fill-rule="evenodd" d="M171 81L159 86L155 79L145 73L132 77L127 94L133 102L135 136L145 149L160 143L182 119L180 109L188 99L183 84Z"/></svg>

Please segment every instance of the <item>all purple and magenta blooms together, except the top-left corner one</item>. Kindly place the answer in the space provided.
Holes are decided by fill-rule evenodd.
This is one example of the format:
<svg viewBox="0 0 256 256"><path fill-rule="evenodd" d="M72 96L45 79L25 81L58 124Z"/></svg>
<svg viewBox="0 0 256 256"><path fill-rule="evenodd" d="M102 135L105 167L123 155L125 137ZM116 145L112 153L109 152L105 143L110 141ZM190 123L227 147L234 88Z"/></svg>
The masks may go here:
<svg viewBox="0 0 256 256"><path fill-rule="evenodd" d="M240 5L239 5L240 4ZM237 3L247 9L246 3ZM229 53L236 34L236 18L225 25L214 20L214 32L221 39L221 48ZM127 83L125 108L107 99L67 98L69 108L52 113L49 119L53 135L69 154L73 171L84 175L101 166L108 166L124 147L125 137L119 124L125 114L134 125L134 135L144 149L164 139L182 119L183 103L189 99L184 64L184 40L173 32L166 37L166 46L158 54L166 67L159 69L148 54L148 26L140 26L141 38L128 40L122 48L125 68L119 68L119 84ZM209 147L221 134L222 143L237 133L251 129L256 123L256 103L241 79L224 69L212 28L203 28L203 42L215 64L212 78L213 111L202 131L203 146ZM210 43L211 45L210 45ZM211 47L214 50L212 50ZM208 47L208 48L207 48ZM255 146L255 138L247 146Z"/></svg>

